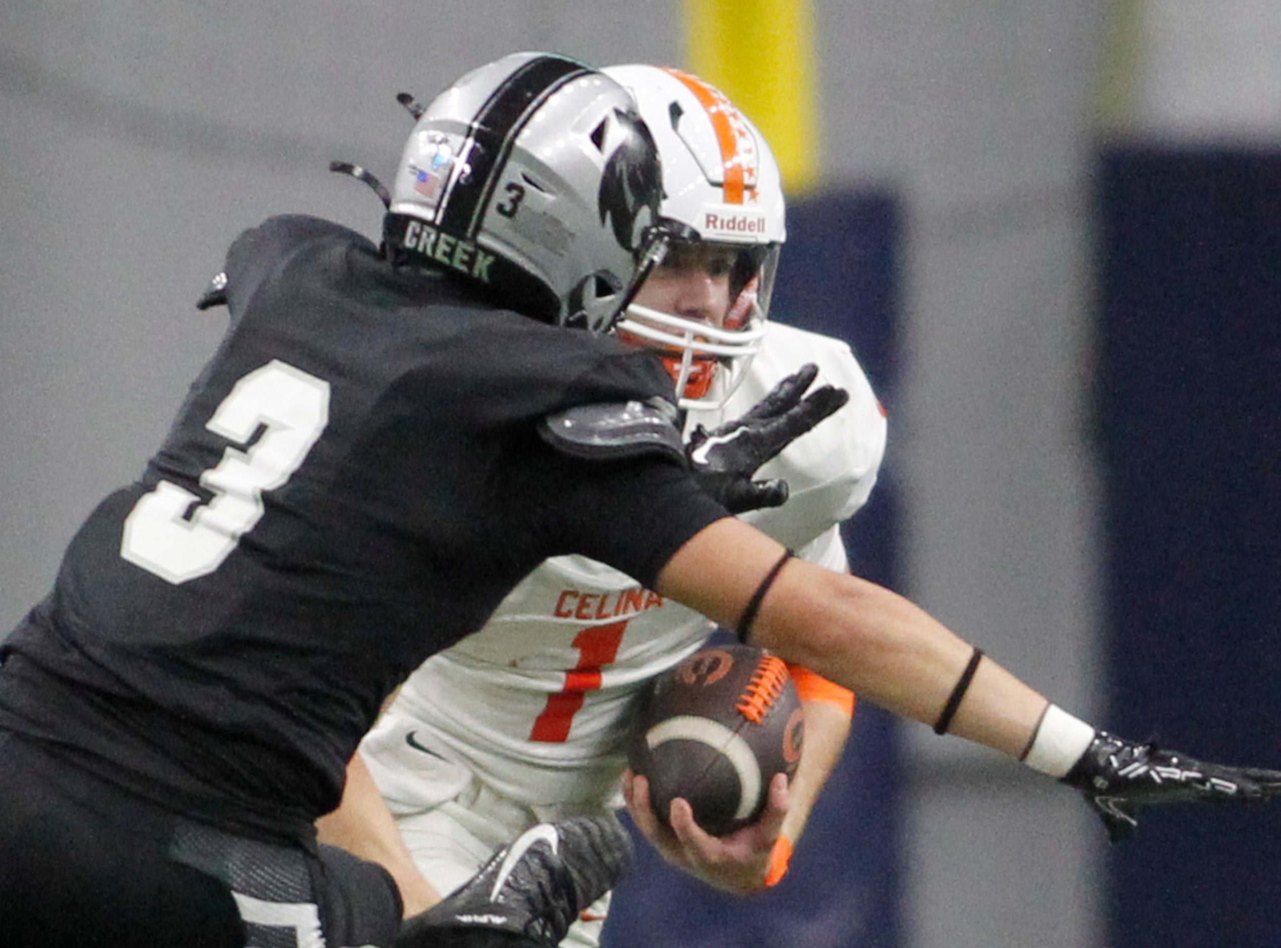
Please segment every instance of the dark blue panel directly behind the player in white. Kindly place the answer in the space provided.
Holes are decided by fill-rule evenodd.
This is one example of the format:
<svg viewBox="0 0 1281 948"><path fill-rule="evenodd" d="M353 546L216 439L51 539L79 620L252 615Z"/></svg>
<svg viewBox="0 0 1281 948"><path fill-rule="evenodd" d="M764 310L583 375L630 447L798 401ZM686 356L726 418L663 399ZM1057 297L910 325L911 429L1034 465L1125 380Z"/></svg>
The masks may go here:
<svg viewBox="0 0 1281 948"><path fill-rule="evenodd" d="M788 209L771 316L851 343L890 409L890 448L867 507L847 525L852 568L894 583L893 473L899 211L884 193L826 194ZM898 948L899 747L890 715L858 709L845 755L792 871L752 898L715 892L644 843L615 894L607 948Z"/></svg>

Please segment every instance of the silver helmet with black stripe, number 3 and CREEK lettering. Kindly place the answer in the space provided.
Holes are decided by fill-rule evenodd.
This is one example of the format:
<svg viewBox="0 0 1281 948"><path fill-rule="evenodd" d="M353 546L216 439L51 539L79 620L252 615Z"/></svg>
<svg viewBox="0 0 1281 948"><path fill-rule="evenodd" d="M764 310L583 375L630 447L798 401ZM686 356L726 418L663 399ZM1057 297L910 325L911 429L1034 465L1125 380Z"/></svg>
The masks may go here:
<svg viewBox="0 0 1281 948"><path fill-rule="evenodd" d="M612 328L658 249L657 150L632 96L564 56L518 52L415 109L383 244L505 304Z"/></svg>

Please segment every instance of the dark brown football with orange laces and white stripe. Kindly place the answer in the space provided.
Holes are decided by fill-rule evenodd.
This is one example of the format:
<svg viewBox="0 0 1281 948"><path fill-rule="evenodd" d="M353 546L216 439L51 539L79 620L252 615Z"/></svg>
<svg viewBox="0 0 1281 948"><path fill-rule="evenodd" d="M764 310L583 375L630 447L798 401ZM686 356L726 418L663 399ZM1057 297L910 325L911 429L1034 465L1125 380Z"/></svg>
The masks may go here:
<svg viewBox="0 0 1281 948"><path fill-rule="evenodd" d="M760 818L770 780L801 760L804 722L787 664L762 649L702 649L647 686L628 746L667 821L683 797L698 825L725 835Z"/></svg>

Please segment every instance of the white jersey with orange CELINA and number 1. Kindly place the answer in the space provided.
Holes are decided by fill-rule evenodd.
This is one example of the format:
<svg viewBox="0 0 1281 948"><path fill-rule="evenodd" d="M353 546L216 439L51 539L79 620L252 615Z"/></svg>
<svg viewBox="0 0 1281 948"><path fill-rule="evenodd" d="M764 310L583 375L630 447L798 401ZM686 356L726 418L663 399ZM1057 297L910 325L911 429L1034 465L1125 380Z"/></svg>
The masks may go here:
<svg viewBox="0 0 1281 948"><path fill-rule="evenodd" d="M743 519L844 572L838 525L866 502L885 448L884 415L848 345L770 324L730 400L693 412L690 423L711 429L743 415L806 362L819 365L816 384L844 388L849 402L761 468L760 477L788 481L787 504ZM363 755L397 816L442 803L474 778L539 819L616 805L633 699L712 631L610 567L550 559L483 629L409 677Z"/></svg>

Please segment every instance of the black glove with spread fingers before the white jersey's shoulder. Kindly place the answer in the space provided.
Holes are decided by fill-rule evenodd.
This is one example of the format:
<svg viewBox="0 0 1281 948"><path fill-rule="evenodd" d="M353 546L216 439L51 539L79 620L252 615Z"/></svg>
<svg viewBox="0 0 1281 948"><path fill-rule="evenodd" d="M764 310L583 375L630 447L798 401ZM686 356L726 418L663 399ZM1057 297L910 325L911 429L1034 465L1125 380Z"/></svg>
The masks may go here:
<svg viewBox="0 0 1281 948"><path fill-rule="evenodd" d="M816 365L802 366L740 418L711 431L698 425L689 436L685 457L703 490L730 513L780 507L788 499L787 481L756 481L752 476L761 464L849 400L848 391L831 385L804 395L817 375Z"/></svg>

